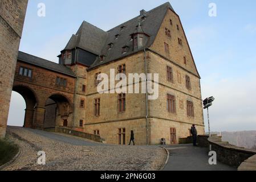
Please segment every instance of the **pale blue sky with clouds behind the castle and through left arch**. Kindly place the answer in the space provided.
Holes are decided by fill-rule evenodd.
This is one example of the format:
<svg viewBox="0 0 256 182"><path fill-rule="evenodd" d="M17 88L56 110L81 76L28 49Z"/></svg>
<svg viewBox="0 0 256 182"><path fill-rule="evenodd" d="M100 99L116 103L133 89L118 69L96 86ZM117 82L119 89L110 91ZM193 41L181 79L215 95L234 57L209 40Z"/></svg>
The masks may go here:
<svg viewBox="0 0 256 182"><path fill-rule="evenodd" d="M57 62L83 20L105 31L165 1L29 1L20 51ZM212 131L256 130L256 1L172 0L201 76L202 97L214 96ZM38 16L38 4L46 16ZM209 16L210 3L216 16ZM25 101L13 92L9 125L22 126ZM204 111L206 131L208 120Z"/></svg>

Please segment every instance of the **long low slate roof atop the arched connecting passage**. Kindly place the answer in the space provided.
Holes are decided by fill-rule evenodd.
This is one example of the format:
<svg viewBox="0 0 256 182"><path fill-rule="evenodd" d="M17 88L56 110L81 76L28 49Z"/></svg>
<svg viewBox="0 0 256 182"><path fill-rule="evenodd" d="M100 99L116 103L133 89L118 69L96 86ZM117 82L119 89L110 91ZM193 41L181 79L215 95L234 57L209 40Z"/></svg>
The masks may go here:
<svg viewBox="0 0 256 182"><path fill-rule="evenodd" d="M76 77L74 72L70 68L65 67L62 64L57 64L52 61L42 59L40 57L29 55L28 53L19 51L18 60L32 65L36 65L41 68L46 68L54 72L63 73L64 75Z"/></svg>

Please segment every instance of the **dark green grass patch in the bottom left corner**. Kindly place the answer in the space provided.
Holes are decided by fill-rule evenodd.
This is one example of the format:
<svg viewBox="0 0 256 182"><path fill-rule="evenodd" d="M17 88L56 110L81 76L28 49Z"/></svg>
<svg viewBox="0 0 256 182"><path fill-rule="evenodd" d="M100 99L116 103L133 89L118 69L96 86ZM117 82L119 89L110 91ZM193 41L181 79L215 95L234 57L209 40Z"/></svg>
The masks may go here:
<svg viewBox="0 0 256 182"><path fill-rule="evenodd" d="M14 143L0 139L0 166L9 162L18 154L19 148Z"/></svg>

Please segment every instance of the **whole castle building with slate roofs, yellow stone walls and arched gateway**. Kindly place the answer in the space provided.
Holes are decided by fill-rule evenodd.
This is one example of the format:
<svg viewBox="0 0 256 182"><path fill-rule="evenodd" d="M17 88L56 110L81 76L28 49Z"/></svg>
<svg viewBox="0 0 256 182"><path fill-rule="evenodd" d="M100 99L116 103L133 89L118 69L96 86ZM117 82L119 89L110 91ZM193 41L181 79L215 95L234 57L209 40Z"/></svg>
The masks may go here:
<svg viewBox="0 0 256 182"><path fill-rule="evenodd" d="M83 22L58 57L59 64L54 64L19 52L14 90L34 97L25 126L68 127L100 135L109 144L128 144L131 130L140 145L160 144L162 138L176 144L190 135L192 124L204 134L200 75L169 2L141 10L109 31ZM111 69L125 75L158 73L159 97L149 100L148 93L110 89L100 94L99 75L111 77ZM26 83L20 78L24 75ZM26 93L21 92L24 86Z"/></svg>

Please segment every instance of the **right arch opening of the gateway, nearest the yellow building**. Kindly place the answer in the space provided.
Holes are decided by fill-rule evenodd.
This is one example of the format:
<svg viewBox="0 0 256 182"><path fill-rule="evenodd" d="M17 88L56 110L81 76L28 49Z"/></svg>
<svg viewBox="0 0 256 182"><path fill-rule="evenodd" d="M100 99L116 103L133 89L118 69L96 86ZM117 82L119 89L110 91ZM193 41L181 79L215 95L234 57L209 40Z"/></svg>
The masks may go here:
<svg viewBox="0 0 256 182"><path fill-rule="evenodd" d="M44 129L55 126L72 127L72 105L63 94L55 93L49 96L45 103Z"/></svg>

